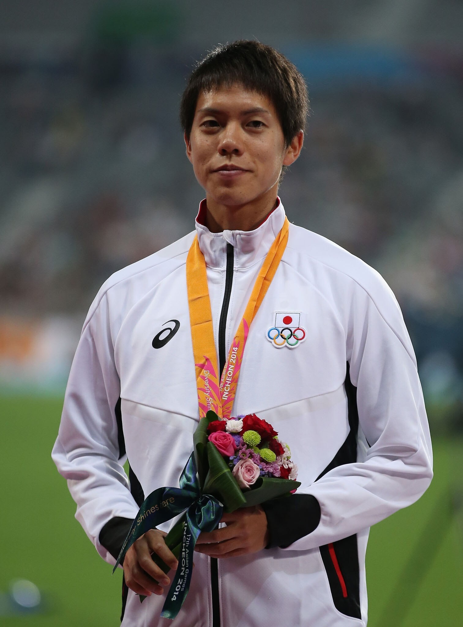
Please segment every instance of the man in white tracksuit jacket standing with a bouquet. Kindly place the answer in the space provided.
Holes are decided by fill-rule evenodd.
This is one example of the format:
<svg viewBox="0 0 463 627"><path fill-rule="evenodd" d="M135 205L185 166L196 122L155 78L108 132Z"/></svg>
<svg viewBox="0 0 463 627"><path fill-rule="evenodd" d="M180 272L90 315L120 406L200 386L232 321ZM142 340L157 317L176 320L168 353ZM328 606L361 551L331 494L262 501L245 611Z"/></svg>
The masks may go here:
<svg viewBox="0 0 463 627"><path fill-rule="evenodd" d="M301 151L307 105L293 64L254 41L209 54L182 97L187 157L206 196L196 233L221 372L284 228L278 184ZM177 486L192 451L199 410L185 264L193 242L190 233L103 285L71 369L53 458L110 564L143 498ZM164 543L170 524L143 535L123 562L123 625L367 623L368 530L429 485L429 429L389 288L294 225L244 351L232 413L254 412L291 446L298 492L224 514L220 529L200 535L189 595L169 623L159 616L171 577L150 555L177 566ZM140 604L137 594L148 598Z"/></svg>

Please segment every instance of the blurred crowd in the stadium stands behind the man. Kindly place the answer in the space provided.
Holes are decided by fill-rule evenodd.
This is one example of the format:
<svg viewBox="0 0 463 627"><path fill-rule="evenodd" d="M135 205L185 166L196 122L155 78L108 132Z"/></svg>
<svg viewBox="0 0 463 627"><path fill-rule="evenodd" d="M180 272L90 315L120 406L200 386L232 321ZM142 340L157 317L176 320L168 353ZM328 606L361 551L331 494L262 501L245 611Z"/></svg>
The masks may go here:
<svg viewBox="0 0 463 627"><path fill-rule="evenodd" d="M192 230L202 191L177 111L200 53L142 41L40 61L0 55L1 317L81 324L113 271ZM382 273L430 403L451 399L457 415L463 83L454 61L453 73L412 66L413 80L320 85L304 70L311 116L280 195L291 221Z"/></svg>

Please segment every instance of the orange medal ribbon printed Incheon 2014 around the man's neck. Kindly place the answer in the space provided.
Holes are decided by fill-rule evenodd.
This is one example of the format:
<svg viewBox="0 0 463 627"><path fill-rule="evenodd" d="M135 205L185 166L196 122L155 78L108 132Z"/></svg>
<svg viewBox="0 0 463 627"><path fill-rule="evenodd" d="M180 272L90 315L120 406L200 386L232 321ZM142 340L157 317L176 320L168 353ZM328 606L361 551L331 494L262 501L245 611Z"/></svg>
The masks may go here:
<svg viewBox="0 0 463 627"><path fill-rule="evenodd" d="M264 300L283 257L288 243L288 229L289 221L285 218L283 228L271 245L252 288L251 297L230 347L220 381L205 260L200 251L197 236L190 246L187 256L187 292L200 418L205 416L209 409L215 411L219 418L228 420L231 417L249 326Z"/></svg>

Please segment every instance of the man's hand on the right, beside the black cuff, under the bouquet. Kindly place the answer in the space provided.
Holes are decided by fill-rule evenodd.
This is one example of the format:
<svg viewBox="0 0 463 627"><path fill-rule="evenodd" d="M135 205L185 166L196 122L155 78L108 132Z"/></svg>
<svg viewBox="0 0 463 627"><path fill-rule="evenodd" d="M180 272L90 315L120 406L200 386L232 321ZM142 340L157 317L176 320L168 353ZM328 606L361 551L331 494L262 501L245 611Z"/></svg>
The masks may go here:
<svg viewBox="0 0 463 627"><path fill-rule="evenodd" d="M227 526L199 534L195 551L210 557L237 557L261 551L268 544L267 517L260 505L224 514L221 522Z"/></svg>

